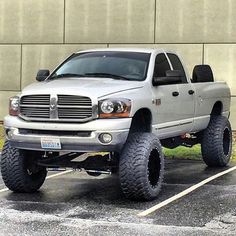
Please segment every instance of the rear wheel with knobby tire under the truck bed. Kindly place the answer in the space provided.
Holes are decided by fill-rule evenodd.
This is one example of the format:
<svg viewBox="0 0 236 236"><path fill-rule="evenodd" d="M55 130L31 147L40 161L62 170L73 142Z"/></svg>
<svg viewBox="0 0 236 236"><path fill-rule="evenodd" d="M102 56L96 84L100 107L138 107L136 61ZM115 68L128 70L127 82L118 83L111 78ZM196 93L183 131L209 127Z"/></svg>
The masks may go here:
<svg viewBox="0 0 236 236"><path fill-rule="evenodd" d="M202 157L210 167L226 166L232 154L232 130L227 118L214 116L203 133Z"/></svg>

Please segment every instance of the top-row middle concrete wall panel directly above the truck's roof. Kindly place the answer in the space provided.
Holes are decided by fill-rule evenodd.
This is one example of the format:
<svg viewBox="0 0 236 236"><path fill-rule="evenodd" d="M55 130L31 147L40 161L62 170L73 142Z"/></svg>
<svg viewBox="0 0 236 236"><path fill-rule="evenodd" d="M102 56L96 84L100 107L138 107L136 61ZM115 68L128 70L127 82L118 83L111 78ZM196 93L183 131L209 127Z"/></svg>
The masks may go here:
<svg viewBox="0 0 236 236"><path fill-rule="evenodd" d="M66 42L153 43L155 0L66 0Z"/></svg>

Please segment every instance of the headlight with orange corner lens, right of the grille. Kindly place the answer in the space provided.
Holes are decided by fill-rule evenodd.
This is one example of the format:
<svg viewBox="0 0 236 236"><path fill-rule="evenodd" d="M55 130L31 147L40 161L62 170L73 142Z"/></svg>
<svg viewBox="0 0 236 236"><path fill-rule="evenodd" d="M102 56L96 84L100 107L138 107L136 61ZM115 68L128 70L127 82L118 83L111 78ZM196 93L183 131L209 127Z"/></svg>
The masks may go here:
<svg viewBox="0 0 236 236"><path fill-rule="evenodd" d="M106 99L99 101L99 117L129 117L131 101L128 99Z"/></svg>

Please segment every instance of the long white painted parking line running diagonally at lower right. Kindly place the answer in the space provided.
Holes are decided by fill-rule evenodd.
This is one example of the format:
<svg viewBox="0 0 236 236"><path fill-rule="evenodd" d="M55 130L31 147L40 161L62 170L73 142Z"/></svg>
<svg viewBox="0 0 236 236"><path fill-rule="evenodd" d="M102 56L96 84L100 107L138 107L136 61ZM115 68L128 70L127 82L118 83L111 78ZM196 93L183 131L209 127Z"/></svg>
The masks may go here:
<svg viewBox="0 0 236 236"><path fill-rule="evenodd" d="M207 178L207 179L205 179L205 180L199 182L198 184L195 184L195 185L193 185L192 187L187 188L186 190L184 190L184 191L178 193L177 195L175 195L175 196L173 196L173 197L171 197L171 198L168 198L168 199L166 199L165 201L160 202L160 203L158 203L157 205L155 205L155 206L153 206L153 207L151 207L151 208L149 208L149 209L147 209L147 210L145 210L145 211L140 212L140 213L138 214L138 216L147 216L147 215L153 213L154 211L157 211L157 210L159 210L160 208L162 208L162 207L164 207L164 206L170 204L171 202L176 201L177 199L179 199L179 198L181 198L181 197L183 197L183 196L185 196L185 195L187 195L187 194L193 192L194 190L196 190L196 189L200 188L201 186L203 186L203 185L205 185L205 184L211 182L212 180L217 179L217 178L219 178L219 177L221 177L221 176L223 176L223 175L226 175L226 174L228 174L228 173L230 173L230 172L232 172L232 171L234 171L234 170L236 170L236 166L234 166L234 167L232 167L232 168L230 168L230 169L228 169L228 170L222 171L222 172L220 172L220 173L218 173L218 174L216 174L216 175L213 175L213 176L211 176L211 177L209 177L209 178Z"/></svg>

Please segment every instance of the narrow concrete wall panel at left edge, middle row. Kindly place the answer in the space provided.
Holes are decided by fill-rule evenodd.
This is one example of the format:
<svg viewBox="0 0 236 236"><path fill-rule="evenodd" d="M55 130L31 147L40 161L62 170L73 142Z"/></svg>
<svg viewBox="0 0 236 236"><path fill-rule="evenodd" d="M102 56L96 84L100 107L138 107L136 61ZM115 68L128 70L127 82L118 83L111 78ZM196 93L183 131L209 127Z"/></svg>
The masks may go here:
<svg viewBox="0 0 236 236"><path fill-rule="evenodd" d="M0 90L20 90L21 46L0 45Z"/></svg>

